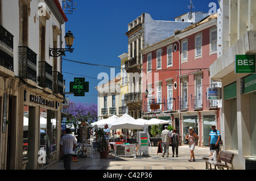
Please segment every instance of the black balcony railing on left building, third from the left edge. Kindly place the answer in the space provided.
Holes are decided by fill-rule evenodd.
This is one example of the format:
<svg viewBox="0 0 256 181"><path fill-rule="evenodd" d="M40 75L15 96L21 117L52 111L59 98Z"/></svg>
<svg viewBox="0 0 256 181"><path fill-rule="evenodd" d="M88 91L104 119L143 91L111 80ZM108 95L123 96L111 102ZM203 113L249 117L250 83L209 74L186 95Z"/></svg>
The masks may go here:
<svg viewBox="0 0 256 181"><path fill-rule="evenodd" d="M52 90L52 66L46 61L39 62L39 86Z"/></svg>

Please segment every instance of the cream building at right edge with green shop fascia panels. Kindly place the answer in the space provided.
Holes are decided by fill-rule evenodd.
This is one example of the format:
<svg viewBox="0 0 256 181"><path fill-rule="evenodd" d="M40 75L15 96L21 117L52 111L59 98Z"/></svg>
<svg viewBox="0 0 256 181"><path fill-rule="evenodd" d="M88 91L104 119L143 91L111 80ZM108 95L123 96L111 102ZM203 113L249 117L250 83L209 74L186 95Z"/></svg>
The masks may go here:
<svg viewBox="0 0 256 181"><path fill-rule="evenodd" d="M245 169L246 158L256 157L256 74L235 70L237 55L256 54L256 2L221 1L220 5L218 59L210 65L210 78L222 83L223 149L234 153L234 169Z"/></svg>

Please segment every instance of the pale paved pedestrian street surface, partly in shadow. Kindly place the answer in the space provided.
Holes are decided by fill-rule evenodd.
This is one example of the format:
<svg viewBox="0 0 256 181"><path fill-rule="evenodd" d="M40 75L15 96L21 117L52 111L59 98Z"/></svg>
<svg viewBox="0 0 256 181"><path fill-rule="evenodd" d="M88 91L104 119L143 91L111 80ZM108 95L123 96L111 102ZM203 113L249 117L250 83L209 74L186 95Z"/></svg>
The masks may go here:
<svg viewBox="0 0 256 181"><path fill-rule="evenodd" d="M189 162L190 151L188 146L179 146L179 157L162 157L162 153L157 153L158 147L152 147L148 156L120 157L115 158L109 154L108 158L101 159L98 151L93 151L93 158L78 158L78 162L72 162L72 170L205 170L205 161L202 157L209 156L209 148L196 146L196 162ZM44 170L64 170L63 161L53 163Z"/></svg>

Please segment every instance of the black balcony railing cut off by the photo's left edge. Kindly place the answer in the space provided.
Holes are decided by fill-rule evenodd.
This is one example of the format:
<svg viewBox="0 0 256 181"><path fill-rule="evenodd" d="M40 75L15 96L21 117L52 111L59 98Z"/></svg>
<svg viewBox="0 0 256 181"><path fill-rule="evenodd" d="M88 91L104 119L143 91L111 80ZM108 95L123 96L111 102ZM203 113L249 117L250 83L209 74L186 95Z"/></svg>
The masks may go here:
<svg viewBox="0 0 256 181"><path fill-rule="evenodd" d="M13 35L0 25L0 65L14 71Z"/></svg>

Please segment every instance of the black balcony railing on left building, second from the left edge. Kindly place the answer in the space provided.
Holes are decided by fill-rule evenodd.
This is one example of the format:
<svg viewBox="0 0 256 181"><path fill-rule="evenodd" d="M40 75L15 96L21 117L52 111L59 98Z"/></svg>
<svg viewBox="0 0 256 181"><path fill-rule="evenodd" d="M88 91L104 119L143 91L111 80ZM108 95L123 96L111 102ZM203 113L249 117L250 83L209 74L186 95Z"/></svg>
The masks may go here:
<svg viewBox="0 0 256 181"><path fill-rule="evenodd" d="M36 56L28 47L19 47L19 77L36 82Z"/></svg>

